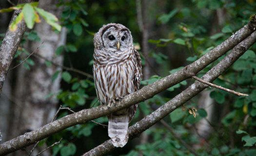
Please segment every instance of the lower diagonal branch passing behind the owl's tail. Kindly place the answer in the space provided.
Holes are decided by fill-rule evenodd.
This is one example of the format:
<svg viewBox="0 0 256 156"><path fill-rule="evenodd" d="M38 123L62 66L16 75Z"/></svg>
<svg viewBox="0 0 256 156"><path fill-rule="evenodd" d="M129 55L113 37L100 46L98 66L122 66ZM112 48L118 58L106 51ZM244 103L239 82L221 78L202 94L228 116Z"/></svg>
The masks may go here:
<svg viewBox="0 0 256 156"><path fill-rule="evenodd" d="M244 52L256 42L256 32L254 32L247 39L239 43L231 53L229 53L224 59L222 59L216 66L208 71L204 76L203 80L213 81L220 76L225 70L227 70ZM144 117L133 126L129 127L129 138L135 138L142 132L153 126L163 117L170 114L172 111L177 109L179 106L195 97L198 93L204 90L208 85L196 81L190 85L186 90L178 94L175 98L159 107L155 112ZM107 140L101 145L95 147L91 151L83 154L83 156L102 156L112 151L115 147L112 145L111 140Z"/></svg>

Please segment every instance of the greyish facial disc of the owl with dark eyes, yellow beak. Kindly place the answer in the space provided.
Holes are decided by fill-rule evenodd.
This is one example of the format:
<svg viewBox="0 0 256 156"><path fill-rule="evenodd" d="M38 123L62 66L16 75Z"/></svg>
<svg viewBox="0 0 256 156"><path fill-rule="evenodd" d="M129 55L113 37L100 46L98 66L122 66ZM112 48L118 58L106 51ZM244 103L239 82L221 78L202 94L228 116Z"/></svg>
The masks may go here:
<svg viewBox="0 0 256 156"><path fill-rule="evenodd" d="M102 42L105 49L110 51L124 51L131 46L130 31L110 25L102 32Z"/></svg>

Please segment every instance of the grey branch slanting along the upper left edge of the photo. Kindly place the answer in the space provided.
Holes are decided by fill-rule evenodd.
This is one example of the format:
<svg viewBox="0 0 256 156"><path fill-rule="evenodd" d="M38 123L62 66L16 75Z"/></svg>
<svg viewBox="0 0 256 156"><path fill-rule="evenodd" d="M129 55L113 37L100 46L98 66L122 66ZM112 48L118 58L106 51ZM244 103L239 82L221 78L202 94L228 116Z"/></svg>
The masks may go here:
<svg viewBox="0 0 256 156"><path fill-rule="evenodd" d="M20 3L28 3L33 0L19 0ZM17 18L20 14L21 10L15 10L12 16L12 20L10 24ZM10 25L9 24L9 25ZM2 44L0 47L0 94L2 92L3 82L11 65L11 62L16 54L16 51L19 47L20 41L25 33L26 24L25 21L22 20L18 25L16 31L10 31L9 27L5 36L2 40Z"/></svg>

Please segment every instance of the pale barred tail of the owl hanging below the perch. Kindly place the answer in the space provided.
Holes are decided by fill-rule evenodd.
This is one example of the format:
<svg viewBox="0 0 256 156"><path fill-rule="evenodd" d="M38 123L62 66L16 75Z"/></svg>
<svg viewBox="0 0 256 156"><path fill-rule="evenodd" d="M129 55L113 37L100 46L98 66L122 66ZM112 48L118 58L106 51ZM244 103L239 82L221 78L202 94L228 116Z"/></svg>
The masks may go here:
<svg viewBox="0 0 256 156"><path fill-rule="evenodd" d="M119 114L119 112L123 113ZM129 116L128 109L108 116L108 136L115 147L123 147L128 141Z"/></svg>

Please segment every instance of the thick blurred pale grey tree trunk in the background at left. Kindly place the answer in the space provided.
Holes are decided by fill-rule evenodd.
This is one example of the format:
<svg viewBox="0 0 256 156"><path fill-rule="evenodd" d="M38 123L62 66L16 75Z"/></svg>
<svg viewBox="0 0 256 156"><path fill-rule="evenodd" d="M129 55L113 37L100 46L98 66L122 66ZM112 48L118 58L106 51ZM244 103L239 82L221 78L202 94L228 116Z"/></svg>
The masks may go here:
<svg viewBox="0 0 256 156"><path fill-rule="evenodd" d="M40 0L39 8L51 12L59 18L61 8L56 7L57 3L56 0ZM35 26L35 31L38 33L40 42L28 42L30 49L27 50L31 53L43 42L34 55L62 64L63 56L56 56L55 50L65 44L66 29L62 28L61 32L57 34L49 24L42 21ZM32 131L50 122L56 112L58 100L54 96L46 97L51 93L58 92L60 76L55 81L52 81L52 76L61 68L46 66L44 59L32 58L35 65L31 66L30 70L26 70L20 65L18 71L15 97L18 105L22 107L17 107L17 105L14 107L12 137Z"/></svg>

